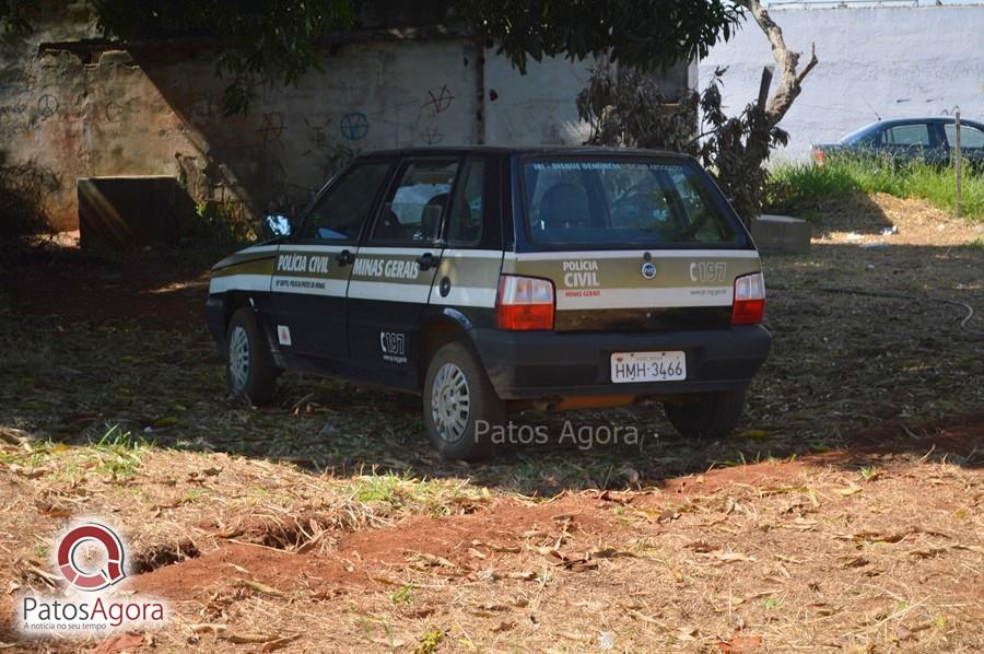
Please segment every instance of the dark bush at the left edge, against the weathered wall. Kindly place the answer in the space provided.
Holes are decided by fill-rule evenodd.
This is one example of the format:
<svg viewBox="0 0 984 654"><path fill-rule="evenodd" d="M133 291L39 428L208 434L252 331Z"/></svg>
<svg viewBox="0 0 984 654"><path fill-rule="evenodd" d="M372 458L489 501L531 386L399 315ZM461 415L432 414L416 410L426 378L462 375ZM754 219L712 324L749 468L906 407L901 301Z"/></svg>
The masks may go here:
<svg viewBox="0 0 984 654"><path fill-rule="evenodd" d="M9 259L52 233L44 198L59 188L58 177L33 163L3 165L0 153L0 260Z"/></svg>

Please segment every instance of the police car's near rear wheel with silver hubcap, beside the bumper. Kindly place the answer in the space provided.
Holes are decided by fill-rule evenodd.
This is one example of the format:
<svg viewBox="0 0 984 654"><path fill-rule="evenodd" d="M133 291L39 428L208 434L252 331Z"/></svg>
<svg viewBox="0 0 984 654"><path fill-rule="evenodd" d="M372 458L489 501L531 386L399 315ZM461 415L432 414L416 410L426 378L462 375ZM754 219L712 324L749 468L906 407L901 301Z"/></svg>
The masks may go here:
<svg viewBox="0 0 984 654"><path fill-rule="evenodd" d="M467 343L448 342L431 358L423 413L431 442L445 458L478 462L492 455L492 433L505 421L505 407Z"/></svg>

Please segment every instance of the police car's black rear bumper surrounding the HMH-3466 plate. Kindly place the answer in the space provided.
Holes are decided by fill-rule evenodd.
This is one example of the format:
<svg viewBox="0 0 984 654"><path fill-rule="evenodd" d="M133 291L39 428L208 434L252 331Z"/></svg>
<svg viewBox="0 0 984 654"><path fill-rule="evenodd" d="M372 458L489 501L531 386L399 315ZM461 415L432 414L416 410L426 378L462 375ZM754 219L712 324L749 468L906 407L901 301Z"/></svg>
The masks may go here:
<svg viewBox="0 0 984 654"><path fill-rule="evenodd" d="M669 332L472 332L495 392L503 399L600 395L676 395L747 386L769 354L772 336L760 325ZM613 352L679 351L687 379L614 384Z"/></svg>

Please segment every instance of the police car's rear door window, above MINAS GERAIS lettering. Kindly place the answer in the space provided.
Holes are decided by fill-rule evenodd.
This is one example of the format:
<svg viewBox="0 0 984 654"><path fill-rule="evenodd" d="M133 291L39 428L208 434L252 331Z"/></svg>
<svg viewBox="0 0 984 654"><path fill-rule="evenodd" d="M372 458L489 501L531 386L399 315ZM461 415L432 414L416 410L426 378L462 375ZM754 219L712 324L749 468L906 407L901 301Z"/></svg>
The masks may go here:
<svg viewBox="0 0 984 654"><path fill-rule="evenodd" d="M403 166L383 201L371 243L430 244L440 235L458 162L415 161Z"/></svg>

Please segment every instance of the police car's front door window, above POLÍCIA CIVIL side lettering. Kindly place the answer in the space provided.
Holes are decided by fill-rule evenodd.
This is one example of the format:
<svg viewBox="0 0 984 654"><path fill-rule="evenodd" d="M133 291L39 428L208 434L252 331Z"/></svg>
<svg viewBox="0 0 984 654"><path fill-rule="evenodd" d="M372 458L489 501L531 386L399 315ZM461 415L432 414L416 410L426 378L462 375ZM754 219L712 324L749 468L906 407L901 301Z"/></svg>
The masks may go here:
<svg viewBox="0 0 984 654"><path fill-rule="evenodd" d="M360 164L318 199L307 214L301 238L354 241L386 180L389 162Z"/></svg>

